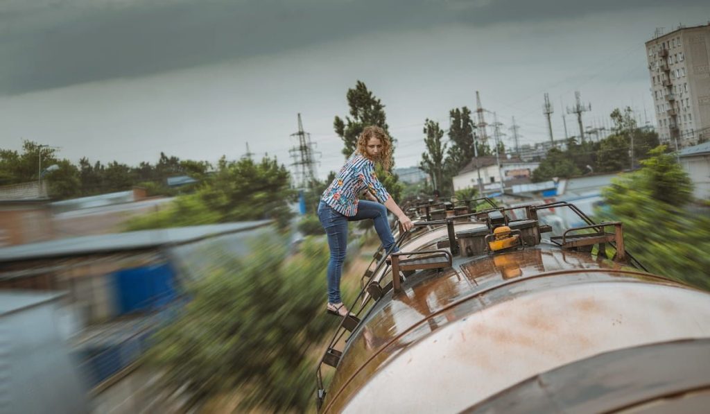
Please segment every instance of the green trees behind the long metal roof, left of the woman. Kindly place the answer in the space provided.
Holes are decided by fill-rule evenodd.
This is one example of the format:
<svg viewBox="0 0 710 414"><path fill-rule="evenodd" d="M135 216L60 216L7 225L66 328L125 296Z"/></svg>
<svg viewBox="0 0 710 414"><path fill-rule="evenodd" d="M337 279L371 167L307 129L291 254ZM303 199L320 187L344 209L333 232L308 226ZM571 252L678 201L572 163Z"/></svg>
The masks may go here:
<svg viewBox="0 0 710 414"><path fill-rule="evenodd" d="M221 222L275 219L285 229L293 213L295 193L289 173L275 159L219 160L217 172L204 179L197 192L180 195L168 208L133 219L127 230L159 229Z"/></svg>

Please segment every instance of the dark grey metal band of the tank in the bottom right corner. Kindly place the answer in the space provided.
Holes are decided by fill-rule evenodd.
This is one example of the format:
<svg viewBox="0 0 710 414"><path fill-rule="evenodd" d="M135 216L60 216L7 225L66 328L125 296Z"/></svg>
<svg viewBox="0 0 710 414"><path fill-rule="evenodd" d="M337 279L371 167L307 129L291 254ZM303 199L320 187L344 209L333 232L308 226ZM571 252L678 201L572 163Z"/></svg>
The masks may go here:
<svg viewBox="0 0 710 414"><path fill-rule="evenodd" d="M528 378L465 412L606 413L654 407L660 413L701 413L706 412L707 405L697 410L693 403L687 408L696 409L688 411L670 410L668 404L675 405L684 398L706 398L709 391L710 339L684 340L575 361Z"/></svg>

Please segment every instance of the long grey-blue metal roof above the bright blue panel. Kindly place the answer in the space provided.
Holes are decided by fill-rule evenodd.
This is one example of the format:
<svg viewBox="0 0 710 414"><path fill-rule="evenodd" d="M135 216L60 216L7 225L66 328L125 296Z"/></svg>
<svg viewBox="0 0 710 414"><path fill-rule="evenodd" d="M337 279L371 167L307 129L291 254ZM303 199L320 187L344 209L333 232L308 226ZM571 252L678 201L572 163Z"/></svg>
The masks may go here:
<svg viewBox="0 0 710 414"><path fill-rule="evenodd" d="M21 244L0 249L0 262L170 246L220 234L256 229L269 223L271 223L271 220L207 224L204 226L128 231L126 233L101 234L99 236L82 236Z"/></svg>

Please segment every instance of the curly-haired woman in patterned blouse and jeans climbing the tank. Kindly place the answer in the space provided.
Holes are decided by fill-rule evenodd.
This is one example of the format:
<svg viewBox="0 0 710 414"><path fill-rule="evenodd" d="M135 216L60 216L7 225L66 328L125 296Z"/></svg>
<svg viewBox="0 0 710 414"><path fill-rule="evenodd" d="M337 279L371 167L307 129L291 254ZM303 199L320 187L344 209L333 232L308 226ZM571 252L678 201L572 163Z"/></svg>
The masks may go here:
<svg viewBox="0 0 710 414"><path fill-rule="evenodd" d="M373 219L377 235L385 251L397 251L395 239L387 222L387 209L398 217L405 231L414 224L392 200L375 175L375 163L385 170L392 164L392 144L379 126L367 126L360 134L356 151L348 158L329 187L323 192L318 205L318 218L328 236L330 260L328 262L327 312L344 316L348 309L340 297L340 276L347 247L348 222ZM372 201L358 200L365 190Z"/></svg>

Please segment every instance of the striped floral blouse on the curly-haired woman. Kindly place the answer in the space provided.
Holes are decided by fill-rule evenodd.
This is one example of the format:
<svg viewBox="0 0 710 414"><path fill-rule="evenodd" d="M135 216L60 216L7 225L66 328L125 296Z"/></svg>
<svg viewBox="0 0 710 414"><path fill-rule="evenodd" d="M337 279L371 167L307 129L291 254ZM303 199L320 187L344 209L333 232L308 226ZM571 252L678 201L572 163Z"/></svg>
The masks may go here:
<svg viewBox="0 0 710 414"><path fill-rule="evenodd" d="M325 189L321 200L340 214L352 217L357 214L358 195L363 190L369 190L382 203L390 197L375 175L375 163L355 151Z"/></svg>

